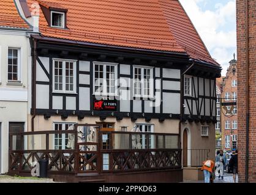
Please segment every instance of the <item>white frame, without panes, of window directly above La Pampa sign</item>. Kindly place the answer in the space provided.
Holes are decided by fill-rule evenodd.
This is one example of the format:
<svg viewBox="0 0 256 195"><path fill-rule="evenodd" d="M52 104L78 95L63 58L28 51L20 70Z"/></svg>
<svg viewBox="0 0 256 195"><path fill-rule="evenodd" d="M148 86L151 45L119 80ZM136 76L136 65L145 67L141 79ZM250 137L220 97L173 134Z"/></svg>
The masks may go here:
<svg viewBox="0 0 256 195"><path fill-rule="evenodd" d="M118 96L118 63L110 62L92 62L93 63L93 94L96 96ZM95 65L103 65L103 91L95 91ZM115 66L115 91L114 93L107 93L107 66Z"/></svg>

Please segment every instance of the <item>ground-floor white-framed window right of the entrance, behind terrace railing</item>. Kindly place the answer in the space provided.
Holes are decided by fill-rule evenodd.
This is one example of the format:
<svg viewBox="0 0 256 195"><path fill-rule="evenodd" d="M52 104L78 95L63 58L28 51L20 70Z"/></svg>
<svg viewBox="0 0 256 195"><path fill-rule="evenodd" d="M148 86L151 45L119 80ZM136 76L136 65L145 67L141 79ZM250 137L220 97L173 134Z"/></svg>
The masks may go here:
<svg viewBox="0 0 256 195"><path fill-rule="evenodd" d="M135 129L140 129L140 132L154 132L154 124L135 124ZM149 144L148 144L149 141ZM140 143L142 149L146 149L149 145L149 149L154 148L154 137L153 135L149 136L149 139L146 139L145 135L140 135Z"/></svg>

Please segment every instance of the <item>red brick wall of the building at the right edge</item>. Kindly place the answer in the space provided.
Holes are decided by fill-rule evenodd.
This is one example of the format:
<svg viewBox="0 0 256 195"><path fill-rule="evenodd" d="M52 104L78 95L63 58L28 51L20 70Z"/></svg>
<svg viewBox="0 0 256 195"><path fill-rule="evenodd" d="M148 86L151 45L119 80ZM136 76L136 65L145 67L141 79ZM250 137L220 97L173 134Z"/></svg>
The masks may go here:
<svg viewBox="0 0 256 195"><path fill-rule="evenodd" d="M246 1L249 4L249 182L256 182L256 0L236 0L238 44L238 169L245 182L246 159Z"/></svg>

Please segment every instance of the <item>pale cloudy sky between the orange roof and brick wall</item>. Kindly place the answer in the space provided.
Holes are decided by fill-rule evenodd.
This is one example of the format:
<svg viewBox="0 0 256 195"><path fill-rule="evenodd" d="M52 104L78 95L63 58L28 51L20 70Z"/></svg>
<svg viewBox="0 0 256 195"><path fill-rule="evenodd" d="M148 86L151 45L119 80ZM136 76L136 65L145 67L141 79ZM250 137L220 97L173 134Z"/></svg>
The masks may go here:
<svg viewBox="0 0 256 195"><path fill-rule="evenodd" d="M179 0L225 76L236 54L236 0Z"/></svg>

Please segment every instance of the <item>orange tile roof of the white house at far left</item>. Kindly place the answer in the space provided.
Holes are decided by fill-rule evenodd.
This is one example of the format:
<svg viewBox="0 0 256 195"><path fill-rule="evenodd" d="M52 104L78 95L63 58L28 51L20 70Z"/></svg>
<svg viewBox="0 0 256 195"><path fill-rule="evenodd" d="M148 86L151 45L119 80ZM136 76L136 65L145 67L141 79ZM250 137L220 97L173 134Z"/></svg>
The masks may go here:
<svg viewBox="0 0 256 195"><path fill-rule="evenodd" d="M13 0L0 1L0 27L29 29L29 25L20 17Z"/></svg>

